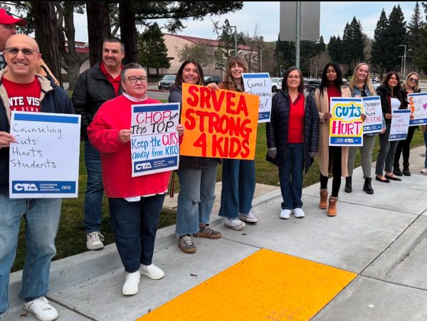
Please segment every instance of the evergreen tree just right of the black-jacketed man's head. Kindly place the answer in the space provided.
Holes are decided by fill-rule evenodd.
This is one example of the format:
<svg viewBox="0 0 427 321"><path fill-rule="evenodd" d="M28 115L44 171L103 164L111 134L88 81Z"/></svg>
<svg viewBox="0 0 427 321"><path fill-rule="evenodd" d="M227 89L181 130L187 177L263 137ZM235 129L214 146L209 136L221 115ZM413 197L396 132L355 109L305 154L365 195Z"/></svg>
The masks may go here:
<svg viewBox="0 0 427 321"><path fill-rule="evenodd" d="M149 68L156 68L159 76L159 68L169 68L171 63L167 58L167 46L157 22L149 26L138 38L138 62L147 67L147 73Z"/></svg>

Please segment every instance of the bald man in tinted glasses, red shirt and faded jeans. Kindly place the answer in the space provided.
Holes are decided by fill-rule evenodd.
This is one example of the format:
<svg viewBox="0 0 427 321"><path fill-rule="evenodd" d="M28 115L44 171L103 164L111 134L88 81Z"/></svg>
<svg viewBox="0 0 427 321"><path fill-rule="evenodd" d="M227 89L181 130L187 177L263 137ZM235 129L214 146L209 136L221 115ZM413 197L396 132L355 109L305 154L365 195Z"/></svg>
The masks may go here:
<svg viewBox="0 0 427 321"><path fill-rule="evenodd" d="M51 259L56 255L55 238L60 218L61 199L9 198L9 147L28 142L24 135L10 134L11 111L74 114L65 93L47 78L36 75L41 54L36 41L14 35L4 53L8 68L0 71L0 315L9 308L9 273L16 256L19 227L25 216L26 259L19 298L23 309L38 320L56 320L58 311L48 304ZM19 315L12 317L19 319Z"/></svg>

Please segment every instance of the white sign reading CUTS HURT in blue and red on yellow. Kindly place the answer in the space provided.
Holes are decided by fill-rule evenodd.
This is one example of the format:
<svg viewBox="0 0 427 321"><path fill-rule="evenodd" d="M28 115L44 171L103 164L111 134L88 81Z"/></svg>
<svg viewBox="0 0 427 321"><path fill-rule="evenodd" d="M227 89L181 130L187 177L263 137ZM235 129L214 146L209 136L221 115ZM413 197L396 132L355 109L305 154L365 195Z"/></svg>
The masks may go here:
<svg viewBox="0 0 427 321"><path fill-rule="evenodd" d="M332 97L330 106L330 146L362 146L362 98Z"/></svg>

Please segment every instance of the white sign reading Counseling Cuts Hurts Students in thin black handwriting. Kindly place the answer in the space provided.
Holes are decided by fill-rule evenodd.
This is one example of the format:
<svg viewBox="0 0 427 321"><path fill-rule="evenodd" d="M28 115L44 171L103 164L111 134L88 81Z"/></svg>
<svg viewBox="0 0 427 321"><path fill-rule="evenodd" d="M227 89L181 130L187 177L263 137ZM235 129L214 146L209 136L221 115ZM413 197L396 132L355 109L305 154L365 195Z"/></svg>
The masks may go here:
<svg viewBox="0 0 427 321"><path fill-rule="evenodd" d="M78 196L80 115L12 112L11 199Z"/></svg>

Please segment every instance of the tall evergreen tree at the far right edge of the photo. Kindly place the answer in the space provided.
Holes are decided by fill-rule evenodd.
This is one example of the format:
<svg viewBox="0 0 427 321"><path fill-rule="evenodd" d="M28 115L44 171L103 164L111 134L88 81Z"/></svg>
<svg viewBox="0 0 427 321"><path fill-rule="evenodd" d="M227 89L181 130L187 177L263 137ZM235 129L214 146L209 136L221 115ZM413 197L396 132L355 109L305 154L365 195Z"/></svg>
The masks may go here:
<svg viewBox="0 0 427 321"><path fill-rule="evenodd" d="M413 65L412 69L421 70L426 57L423 57L426 38L423 37L424 23L421 18L421 11L418 1L416 2L411 21L408 23L408 48L406 48L406 64Z"/></svg>

